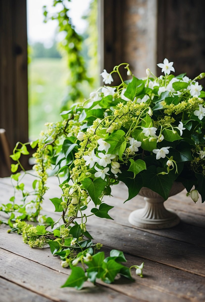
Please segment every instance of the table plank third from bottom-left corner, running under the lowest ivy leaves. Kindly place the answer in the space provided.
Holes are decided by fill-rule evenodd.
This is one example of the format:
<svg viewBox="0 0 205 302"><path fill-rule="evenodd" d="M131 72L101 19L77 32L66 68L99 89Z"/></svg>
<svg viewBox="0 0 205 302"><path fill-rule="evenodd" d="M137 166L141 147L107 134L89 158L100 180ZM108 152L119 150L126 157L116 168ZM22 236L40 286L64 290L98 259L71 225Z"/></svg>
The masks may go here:
<svg viewBox="0 0 205 302"><path fill-rule="evenodd" d="M6 229L7 227L4 227ZM27 259L40 263L41 265L52 268L56 271L61 271L65 274L69 274L69 270L63 269L60 266L60 259L57 257L53 257L50 254L50 249L31 249L28 245L22 243L21 236L17 234L8 234L4 230L0 230L0 236L2 238L1 247L4 249L9 249L11 252L14 252L18 255L21 255ZM106 254L109 254L111 248L103 247L103 250ZM133 264L140 264L143 260L138 257L133 257L130 255L126 255L127 266L131 266ZM43 269L43 268L42 268ZM175 268L170 268L168 266L154 263L148 260L145 260L145 278L139 278L137 276L133 277L136 279L139 287L143 285L149 288L154 289L155 291L176 295L177 297L186 297L186 298L194 298L197 297L197 301L203 301L205 297L205 286L204 286L204 278L197 275L192 275L184 271L177 270ZM109 285L109 287L113 287L115 290L118 289L118 285L120 281L117 281L114 285ZM123 290L125 292L130 292L130 294L134 295L136 292L136 284L130 284L125 281L123 285ZM149 291L151 291L149 289ZM155 294L156 301L161 297L162 301L166 301L164 296L161 294L157 294L155 291L150 292L150 294ZM141 292L141 290L140 290ZM147 289L146 289L147 292ZM138 297L142 298L142 294L138 293ZM164 299L164 300L163 300ZM171 299L170 299L171 300ZM154 301L151 300L151 301ZM169 300L168 300L169 301Z"/></svg>

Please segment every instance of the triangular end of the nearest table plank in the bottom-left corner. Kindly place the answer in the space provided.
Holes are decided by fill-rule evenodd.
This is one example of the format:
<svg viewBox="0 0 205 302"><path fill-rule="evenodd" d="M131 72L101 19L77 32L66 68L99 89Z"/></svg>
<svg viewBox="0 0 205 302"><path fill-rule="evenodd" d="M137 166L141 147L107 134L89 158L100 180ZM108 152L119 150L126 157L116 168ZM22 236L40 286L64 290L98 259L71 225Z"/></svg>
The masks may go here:
<svg viewBox="0 0 205 302"><path fill-rule="evenodd" d="M0 300L2 302L52 302L53 300L33 293L15 283L0 278Z"/></svg>

